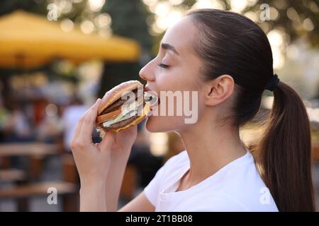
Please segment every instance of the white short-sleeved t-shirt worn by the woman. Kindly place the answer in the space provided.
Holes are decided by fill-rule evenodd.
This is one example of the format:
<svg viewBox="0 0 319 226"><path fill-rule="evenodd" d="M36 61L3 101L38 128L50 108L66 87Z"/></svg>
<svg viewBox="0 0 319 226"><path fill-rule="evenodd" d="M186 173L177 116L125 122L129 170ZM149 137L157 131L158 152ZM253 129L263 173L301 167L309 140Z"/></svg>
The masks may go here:
<svg viewBox="0 0 319 226"><path fill-rule="evenodd" d="M189 166L184 150L171 157L145 187L155 211L278 211L248 150L203 182L176 191Z"/></svg>

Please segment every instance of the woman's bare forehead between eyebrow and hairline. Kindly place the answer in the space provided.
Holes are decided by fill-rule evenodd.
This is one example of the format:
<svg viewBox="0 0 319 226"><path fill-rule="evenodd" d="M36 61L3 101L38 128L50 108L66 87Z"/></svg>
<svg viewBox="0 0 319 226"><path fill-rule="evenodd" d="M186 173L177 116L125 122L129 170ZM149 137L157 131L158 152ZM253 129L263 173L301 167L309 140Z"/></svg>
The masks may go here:
<svg viewBox="0 0 319 226"><path fill-rule="evenodd" d="M170 27L162 38L162 43L175 47L179 54L189 52L196 35L196 28L190 16L186 16Z"/></svg>

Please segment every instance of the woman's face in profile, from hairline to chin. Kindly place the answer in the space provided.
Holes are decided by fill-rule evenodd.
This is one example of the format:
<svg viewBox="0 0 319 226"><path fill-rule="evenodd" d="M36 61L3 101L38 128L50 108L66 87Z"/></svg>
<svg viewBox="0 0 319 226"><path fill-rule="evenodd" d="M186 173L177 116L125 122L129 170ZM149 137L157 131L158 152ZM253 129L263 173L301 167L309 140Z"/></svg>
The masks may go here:
<svg viewBox="0 0 319 226"><path fill-rule="evenodd" d="M160 99L160 105L157 107L158 116L152 115L148 117L146 128L150 132L164 131L183 131L192 124L185 123L185 118L191 118L184 112L184 91L189 91L189 110L193 110L192 114L197 114L199 118L203 109L201 103L201 59L196 56L193 50L193 43L197 37L197 31L190 17L185 17L176 23L172 28L169 28L162 38L157 57L150 61L140 70L140 77L147 81L146 87L149 90L155 91L160 96L161 91L172 91L172 93L180 93L183 96L183 103L169 102L166 99L166 105L163 105L164 100ZM198 98L192 100L192 91L198 92ZM175 93L175 94L177 94ZM187 92L186 92L187 93ZM169 95L169 93L167 93ZM195 102L195 106L191 106L191 102ZM171 103L171 106L169 106ZM177 115L177 105L181 105L182 114ZM166 114L161 114L161 108L166 107ZM174 109L174 116L168 116L168 109ZM195 117L195 116L194 116ZM193 118L194 121L195 118Z"/></svg>

